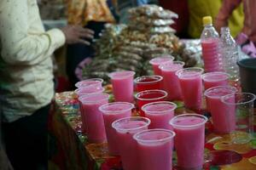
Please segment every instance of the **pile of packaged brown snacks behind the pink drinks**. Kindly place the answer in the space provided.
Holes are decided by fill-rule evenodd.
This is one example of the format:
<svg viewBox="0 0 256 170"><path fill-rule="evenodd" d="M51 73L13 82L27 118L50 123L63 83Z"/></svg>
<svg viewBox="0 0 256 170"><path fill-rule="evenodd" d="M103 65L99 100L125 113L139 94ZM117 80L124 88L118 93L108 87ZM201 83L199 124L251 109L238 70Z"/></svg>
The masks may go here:
<svg viewBox="0 0 256 170"><path fill-rule="evenodd" d="M177 14L157 5L144 5L129 10L127 25L107 25L95 41L96 55L84 67L83 77L108 80L112 71L136 71L136 76L152 74L148 61L154 57L172 55L185 66L195 66L201 53L186 48L170 27Z"/></svg>

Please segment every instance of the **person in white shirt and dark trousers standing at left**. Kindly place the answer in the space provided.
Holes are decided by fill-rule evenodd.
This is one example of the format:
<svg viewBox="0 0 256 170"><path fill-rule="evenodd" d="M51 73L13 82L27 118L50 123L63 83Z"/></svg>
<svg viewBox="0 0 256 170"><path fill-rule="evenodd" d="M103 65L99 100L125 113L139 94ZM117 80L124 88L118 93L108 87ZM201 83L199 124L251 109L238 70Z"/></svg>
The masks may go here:
<svg viewBox="0 0 256 170"><path fill-rule="evenodd" d="M54 98L51 55L67 43L90 42L81 26L44 31L37 0L0 1L0 116L15 170L47 169L47 122Z"/></svg>

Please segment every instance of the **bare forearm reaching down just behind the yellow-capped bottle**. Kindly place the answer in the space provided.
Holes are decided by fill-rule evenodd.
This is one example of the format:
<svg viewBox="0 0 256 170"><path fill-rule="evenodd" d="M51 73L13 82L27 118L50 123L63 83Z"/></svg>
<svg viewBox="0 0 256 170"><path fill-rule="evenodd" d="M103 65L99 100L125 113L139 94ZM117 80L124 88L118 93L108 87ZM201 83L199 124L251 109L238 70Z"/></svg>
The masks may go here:
<svg viewBox="0 0 256 170"><path fill-rule="evenodd" d="M221 27L228 26L228 20L233 10L239 6L242 0L224 0L221 8L218 11L214 26L217 31Z"/></svg>

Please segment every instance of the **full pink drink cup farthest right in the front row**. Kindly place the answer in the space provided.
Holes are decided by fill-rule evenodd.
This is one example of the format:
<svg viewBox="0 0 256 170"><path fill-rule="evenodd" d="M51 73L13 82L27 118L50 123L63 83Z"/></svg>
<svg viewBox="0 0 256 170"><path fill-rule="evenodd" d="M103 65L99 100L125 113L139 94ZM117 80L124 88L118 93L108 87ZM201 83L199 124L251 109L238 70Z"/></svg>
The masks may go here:
<svg viewBox="0 0 256 170"><path fill-rule="evenodd" d="M202 169L204 163L205 123L198 114L174 116L170 122L176 133L177 166L181 169Z"/></svg>

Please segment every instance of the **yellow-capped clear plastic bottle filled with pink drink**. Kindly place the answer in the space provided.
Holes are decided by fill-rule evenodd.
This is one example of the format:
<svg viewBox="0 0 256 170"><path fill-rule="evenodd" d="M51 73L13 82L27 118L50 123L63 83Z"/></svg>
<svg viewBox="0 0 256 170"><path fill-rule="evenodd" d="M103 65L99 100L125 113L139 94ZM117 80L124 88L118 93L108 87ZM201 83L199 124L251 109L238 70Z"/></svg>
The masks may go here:
<svg viewBox="0 0 256 170"><path fill-rule="evenodd" d="M204 29L201 33L201 48L205 71L223 71L219 52L219 36L212 26L212 17L205 16L202 21Z"/></svg>

